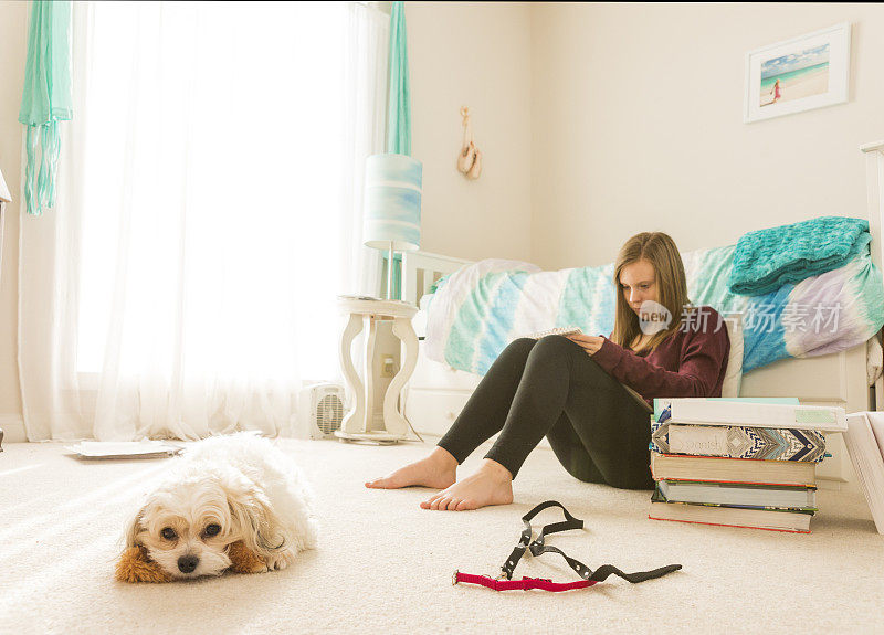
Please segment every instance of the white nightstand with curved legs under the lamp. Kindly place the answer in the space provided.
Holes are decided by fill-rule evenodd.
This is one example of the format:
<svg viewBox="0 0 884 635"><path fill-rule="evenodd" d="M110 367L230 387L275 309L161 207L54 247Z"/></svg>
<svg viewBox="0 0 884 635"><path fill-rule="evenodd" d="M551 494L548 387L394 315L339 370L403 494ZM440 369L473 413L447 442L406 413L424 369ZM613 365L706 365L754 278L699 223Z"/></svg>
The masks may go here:
<svg viewBox="0 0 884 635"><path fill-rule="evenodd" d="M409 422L399 411L399 395L418 363L418 336L411 326L411 318L418 307L400 300L370 300L339 298L338 309L350 316L340 338L340 368L347 381L347 391L355 395L356 406L341 422L335 434L344 440L394 442L408 436ZM366 381L359 379L350 357L352 340L368 321L366 334L366 354L362 360ZM390 381L383 396L383 428L378 430L375 422L375 377L372 360L378 332L378 322L392 321L392 332L406 345L401 368Z"/></svg>

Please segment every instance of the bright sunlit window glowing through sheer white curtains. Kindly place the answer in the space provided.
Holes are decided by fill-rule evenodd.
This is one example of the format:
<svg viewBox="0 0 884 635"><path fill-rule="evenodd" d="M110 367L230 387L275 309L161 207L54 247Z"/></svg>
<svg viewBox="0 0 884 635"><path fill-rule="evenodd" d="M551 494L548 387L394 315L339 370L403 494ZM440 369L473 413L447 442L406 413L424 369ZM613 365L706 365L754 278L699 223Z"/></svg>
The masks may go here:
<svg viewBox="0 0 884 635"><path fill-rule="evenodd" d="M80 372L336 375L347 19L75 4Z"/></svg>

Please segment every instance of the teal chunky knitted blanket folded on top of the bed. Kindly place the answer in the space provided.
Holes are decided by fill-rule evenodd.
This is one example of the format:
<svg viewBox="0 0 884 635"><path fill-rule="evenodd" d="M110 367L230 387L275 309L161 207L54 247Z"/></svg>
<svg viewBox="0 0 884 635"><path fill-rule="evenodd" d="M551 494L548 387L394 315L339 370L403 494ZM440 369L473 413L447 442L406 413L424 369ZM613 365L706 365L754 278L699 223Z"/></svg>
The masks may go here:
<svg viewBox="0 0 884 635"><path fill-rule="evenodd" d="M869 221L844 216L749 232L737 242L728 288L746 296L771 293L844 266L871 240Z"/></svg>

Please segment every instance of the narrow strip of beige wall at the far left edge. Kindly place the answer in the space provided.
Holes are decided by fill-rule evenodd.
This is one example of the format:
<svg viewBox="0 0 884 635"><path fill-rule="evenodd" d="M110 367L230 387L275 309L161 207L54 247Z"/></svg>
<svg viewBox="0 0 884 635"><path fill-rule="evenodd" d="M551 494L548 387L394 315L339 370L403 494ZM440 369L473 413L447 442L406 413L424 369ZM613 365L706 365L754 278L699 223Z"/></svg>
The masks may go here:
<svg viewBox="0 0 884 635"><path fill-rule="evenodd" d="M21 181L21 135L19 105L24 83L27 2L0 2L0 170L3 171L12 204L6 207L2 268L0 269L0 427L17 440L21 400L15 362L15 331L19 257L19 205ZM24 438L18 438L24 441Z"/></svg>

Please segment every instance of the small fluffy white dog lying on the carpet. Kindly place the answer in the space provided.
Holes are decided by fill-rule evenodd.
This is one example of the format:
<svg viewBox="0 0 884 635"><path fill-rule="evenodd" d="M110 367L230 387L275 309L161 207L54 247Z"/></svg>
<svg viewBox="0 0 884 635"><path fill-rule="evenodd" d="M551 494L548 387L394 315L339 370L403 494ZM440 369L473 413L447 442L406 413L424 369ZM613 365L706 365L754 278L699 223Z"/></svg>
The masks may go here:
<svg viewBox="0 0 884 635"><path fill-rule="evenodd" d="M178 458L126 530L172 578L220 575L227 550L242 540L262 561L285 569L312 549L317 522L297 466L250 433L200 441Z"/></svg>

